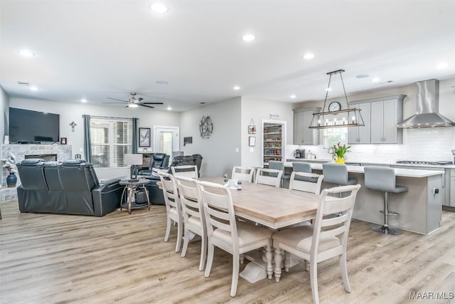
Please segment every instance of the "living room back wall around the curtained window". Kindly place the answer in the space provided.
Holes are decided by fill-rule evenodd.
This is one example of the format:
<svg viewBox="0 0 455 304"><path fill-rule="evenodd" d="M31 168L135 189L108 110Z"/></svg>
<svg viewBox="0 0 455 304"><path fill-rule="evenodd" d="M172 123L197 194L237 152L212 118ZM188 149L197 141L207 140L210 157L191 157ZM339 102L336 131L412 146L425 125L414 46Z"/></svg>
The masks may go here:
<svg viewBox="0 0 455 304"><path fill-rule="evenodd" d="M60 137L67 137L68 145L73 146L73 157L75 154L82 154L83 156L84 126L82 115L84 114L105 117L137 117L139 118L138 127L150 127L152 130L154 125L178 126L180 120L180 113L178 112L159 111L141 107L107 107L101 105L90 105L88 103L62 103L21 98L11 98L9 107L59 114ZM72 121L77 124L74 132L71 131L70 127L70 122ZM153 145L153 134L151 134L151 143ZM153 148L151 147L148 150L151 152L153 151ZM100 179L129 175L128 169L97 168L96 172L98 178Z"/></svg>

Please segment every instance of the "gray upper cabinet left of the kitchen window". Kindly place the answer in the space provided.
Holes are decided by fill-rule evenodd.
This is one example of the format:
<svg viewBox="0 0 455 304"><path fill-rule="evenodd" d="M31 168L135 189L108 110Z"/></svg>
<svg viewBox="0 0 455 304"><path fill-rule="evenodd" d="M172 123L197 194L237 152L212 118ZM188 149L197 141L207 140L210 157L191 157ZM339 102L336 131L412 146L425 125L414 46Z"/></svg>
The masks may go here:
<svg viewBox="0 0 455 304"><path fill-rule="evenodd" d="M313 113L321 108L294 110L294 145L319 145L319 130L310 129Z"/></svg>

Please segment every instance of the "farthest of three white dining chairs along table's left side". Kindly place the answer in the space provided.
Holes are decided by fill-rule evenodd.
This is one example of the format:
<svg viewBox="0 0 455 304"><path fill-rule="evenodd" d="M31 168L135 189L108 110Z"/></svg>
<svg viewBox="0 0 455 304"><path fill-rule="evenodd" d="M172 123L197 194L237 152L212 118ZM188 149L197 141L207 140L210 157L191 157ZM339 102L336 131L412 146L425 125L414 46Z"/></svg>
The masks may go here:
<svg viewBox="0 0 455 304"><path fill-rule="evenodd" d="M158 172L163 187L164 203L166 204L167 224L164 241L167 242L171 234L172 221L177 224L176 252L180 251L183 235L183 216L180 198L178 197L176 178L172 174Z"/></svg>

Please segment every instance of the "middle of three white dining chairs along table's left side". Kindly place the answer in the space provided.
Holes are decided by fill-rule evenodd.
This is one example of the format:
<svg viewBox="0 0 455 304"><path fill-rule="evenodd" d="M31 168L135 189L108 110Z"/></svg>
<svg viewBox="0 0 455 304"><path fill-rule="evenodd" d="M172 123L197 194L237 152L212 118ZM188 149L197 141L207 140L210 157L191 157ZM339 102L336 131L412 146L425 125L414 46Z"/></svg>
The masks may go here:
<svg viewBox="0 0 455 304"><path fill-rule="evenodd" d="M176 181L183 213L182 257L186 256L191 237L197 234L201 241L199 271L203 271L207 256L207 229L200 192L196 179L176 176Z"/></svg>

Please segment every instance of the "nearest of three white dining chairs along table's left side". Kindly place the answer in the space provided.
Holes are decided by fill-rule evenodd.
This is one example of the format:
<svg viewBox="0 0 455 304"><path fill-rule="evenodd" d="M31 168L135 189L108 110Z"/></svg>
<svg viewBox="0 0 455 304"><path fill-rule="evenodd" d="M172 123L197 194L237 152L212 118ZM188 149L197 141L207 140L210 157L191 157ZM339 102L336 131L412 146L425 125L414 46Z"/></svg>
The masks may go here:
<svg viewBox="0 0 455 304"><path fill-rule="evenodd" d="M239 279L240 255L272 245L272 231L245 221L236 221L232 195L227 186L196 181L203 199L207 223L208 257L205 278L210 276L215 246L232 254L230 296L235 297ZM269 248L270 249L270 248Z"/></svg>

